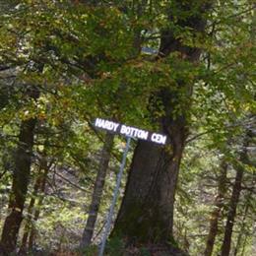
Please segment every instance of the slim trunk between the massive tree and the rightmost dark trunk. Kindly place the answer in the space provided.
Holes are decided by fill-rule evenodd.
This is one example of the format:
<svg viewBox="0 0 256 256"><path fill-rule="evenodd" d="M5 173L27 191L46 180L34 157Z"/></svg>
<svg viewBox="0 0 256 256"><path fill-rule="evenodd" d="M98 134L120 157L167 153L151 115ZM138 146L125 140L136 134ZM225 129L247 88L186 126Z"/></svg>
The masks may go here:
<svg viewBox="0 0 256 256"><path fill-rule="evenodd" d="M218 233L218 223L219 223L221 212L224 208L224 195L226 193L226 171L227 171L227 163L225 160L222 160L221 175L219 177L219 185L218 185L219 191L218 191L217 198L215 200L214 210L211 215L210 230L207 237L206 250L204 253L205 256L211 256L214 250L215 239Z"/></svg>

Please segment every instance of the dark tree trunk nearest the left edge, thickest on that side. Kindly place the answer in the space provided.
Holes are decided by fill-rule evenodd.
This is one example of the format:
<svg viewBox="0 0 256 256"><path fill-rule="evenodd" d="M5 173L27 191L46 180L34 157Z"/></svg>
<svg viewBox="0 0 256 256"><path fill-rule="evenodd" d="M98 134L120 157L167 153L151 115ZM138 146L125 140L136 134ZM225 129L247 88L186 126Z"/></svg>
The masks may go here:
<svg viewBox="0 0 256 256"><path fill-rule="evenodd" d="M28 91L33 99L38 97L36 89ZM5 254L10 255L16 249L19 229L23 221L23 210L31 175L33 132L36 119L22 121L19 145L15 153L12 191L9 201L10 214L6 218L1 238L1 247Z"/></svg>

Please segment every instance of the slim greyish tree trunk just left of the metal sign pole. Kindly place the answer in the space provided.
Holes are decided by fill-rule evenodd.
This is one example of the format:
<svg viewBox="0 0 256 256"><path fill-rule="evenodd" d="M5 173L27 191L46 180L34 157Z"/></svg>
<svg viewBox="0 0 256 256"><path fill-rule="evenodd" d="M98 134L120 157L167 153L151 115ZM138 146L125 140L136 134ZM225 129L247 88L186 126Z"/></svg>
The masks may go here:
<svg viewBox="0 0 256 256"><path fill-rule="evenodd" d="M89 208L89 217L87 220L87 224L83 233L83 237L81 240L80 247L84 248L91 244L95 225L96 225L96 218L98 214L99 204L104 188L105 176L106 171L108 168L108 163L111 157L111 150L113 146L114 135L107 133L105 136L104 145L101 152L99 168L96 174L96 183L94 187L94 192L92 196L92 203Z"/></svg>

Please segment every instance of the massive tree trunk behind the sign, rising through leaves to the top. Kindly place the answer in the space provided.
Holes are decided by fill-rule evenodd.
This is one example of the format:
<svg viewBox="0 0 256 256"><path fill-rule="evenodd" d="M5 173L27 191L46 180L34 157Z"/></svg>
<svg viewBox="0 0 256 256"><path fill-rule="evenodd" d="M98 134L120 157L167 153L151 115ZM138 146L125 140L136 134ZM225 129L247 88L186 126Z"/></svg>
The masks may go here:
<svg viewBox="0 0 256 256"><path fill-rule="evenodd" d="M195 11L194 1L175 1L175 6L187 15L186 19L178 20L178 26L188 27L194 32L204 31L205 22L201 15L206 6L202 4L199 14L189 12ZM169 19L173 22L171 14ZM159 58L174 51L191 62L198 61L200 57L200 49L182 45L171 30L166 30L161 33ZM180 80L177 84L186 97L191 96L192 85ZM125 195L112 231L112 235L126 238L128 243L165 243L172 238L175 188L188 134L187 106L182 105L179 96L171 87L162 89L157 96L164 107L159 124L161 132L168 136L168 146L162 148L140 141L135 150ZM174 113L176 107L183 111Z"/></svg>

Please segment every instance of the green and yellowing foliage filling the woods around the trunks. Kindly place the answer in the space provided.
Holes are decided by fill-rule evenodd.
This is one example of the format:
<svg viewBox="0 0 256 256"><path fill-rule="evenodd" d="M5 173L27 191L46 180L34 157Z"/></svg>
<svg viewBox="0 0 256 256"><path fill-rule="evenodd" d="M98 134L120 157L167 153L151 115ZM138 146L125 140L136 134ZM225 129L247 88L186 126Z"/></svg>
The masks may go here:
<svg viewBox="0 0 256 256"><path fill-rule="evenodd" d="M1 217L7 213L19 126L35 117L29 199L38 177L39 159L45 155L53 165L43 204L37 206L40 218L32 222L37 230L36 243L52 248L76 246L87 218L102 145L102 134L92 129L94 118L114 118L158 130L156 120L166 112L161 98L153 100L152 96L167 89L172 95L168 102L171 118L184 115L191 128L176 200L177 244L191 255L202 253L220 160L224 157L231 165L237 161L239 138L251 122L246 117L256 108L255 7L243 0L217 2L207 17L206 32L195 33L189 25L178 24L177 18L185 21L198 15L202 3L208 1L193 2L193 12L178 8L186 1L8 2L0 6L0 68L8 67L8 72L0 72ZM200 63L189 62L179 52L160 59L156 53L141 50L150 47L158 51L160 32L170 28L184 46L202 49ZM26 95L33 88L40 92L37 100ZM117 159L119 144L121 141L116 140ZM117 163L112 160L110 164L113 171L106 181L97 231L109 205ZM255 168L242 166L246 169L244 183L252 186ZM71 174L66 170L72 170ZM59 176L56 181L58 174L66 180ZM232 181L233 167L228 175ZM67 180L74 181L73 185ZM244 193L244 205L245 198ZM255 200L250 199L250 205L255 209ZM238 213L242 214L242 209L241 204ZM247 255L252 239L250 214L245 222ZM237 220L238 231L242 219ZM216 251L221 244L221 225ZM123 249L118 239L107 245L109 255L122 255ZM86 253L94 255L96 248L90 247ZM142 255L147 253L142 249Z"/></svg>

